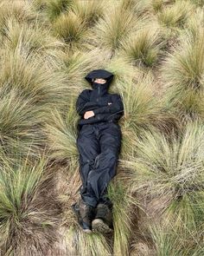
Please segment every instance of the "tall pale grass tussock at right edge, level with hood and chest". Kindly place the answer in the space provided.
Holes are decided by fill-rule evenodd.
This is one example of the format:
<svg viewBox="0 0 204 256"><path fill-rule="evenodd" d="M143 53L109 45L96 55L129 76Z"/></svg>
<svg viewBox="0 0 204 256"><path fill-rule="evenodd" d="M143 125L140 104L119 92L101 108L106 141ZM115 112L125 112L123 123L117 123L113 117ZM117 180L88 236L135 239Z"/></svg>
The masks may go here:
<svg viewBox="0 0 204 256"><path fill-rule="evenodd" d="M186 33L174 53L163 64L163 80L167 85L165 101L168 108L186 122L203 119L204 34Z"/></svg>

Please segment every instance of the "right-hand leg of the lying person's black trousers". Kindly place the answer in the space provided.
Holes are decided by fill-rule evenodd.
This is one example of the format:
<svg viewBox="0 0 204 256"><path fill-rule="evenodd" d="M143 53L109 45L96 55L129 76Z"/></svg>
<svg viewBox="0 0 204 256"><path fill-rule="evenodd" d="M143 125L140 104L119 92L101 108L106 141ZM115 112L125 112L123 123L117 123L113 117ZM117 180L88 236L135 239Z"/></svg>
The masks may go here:
<svg viewBox="0 0 204 256"><path fill-rule="evenodd" d="M98 124L100 154L95 159L94 169L88 176L89 189L92 189L98 202L112 206L107 197L107 187L116 175L118 154L121 148L121 129L114 123Z"/></svg>

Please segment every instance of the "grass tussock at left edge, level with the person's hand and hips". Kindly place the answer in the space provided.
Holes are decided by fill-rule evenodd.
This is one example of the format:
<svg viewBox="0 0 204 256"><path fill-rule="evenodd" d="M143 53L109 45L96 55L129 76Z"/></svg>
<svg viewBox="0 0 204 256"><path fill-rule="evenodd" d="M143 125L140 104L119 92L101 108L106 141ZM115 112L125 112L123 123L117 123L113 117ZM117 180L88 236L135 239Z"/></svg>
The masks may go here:
<svg viewBox="0 0 204 256"><path fill-rule="evenodd" d="M32 106L15 89L7 92L6 86L0 89L0 135L3 151L11 156L12 151L16 150L19 154L29 153L37 157L38 150L45 145L45 135L41 130L41 120L44 118L42 109Z"/></svg>

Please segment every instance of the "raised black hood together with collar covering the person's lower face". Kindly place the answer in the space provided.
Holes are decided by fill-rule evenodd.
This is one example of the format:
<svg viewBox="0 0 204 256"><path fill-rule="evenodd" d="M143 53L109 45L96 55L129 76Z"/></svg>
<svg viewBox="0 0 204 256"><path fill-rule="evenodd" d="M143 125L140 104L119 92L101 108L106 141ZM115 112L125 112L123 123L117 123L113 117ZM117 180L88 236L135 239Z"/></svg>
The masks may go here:
<svg viewBox="0 0 204 256"><path fill-rule="evenodd" d="M92 79L103 78L105 83L92 82ZM95 69L88 73L85 77L86 81L91 83L92 86L92 98L98 98L108 93L109 86L113 79L113 74L105 69Z"/></svg>

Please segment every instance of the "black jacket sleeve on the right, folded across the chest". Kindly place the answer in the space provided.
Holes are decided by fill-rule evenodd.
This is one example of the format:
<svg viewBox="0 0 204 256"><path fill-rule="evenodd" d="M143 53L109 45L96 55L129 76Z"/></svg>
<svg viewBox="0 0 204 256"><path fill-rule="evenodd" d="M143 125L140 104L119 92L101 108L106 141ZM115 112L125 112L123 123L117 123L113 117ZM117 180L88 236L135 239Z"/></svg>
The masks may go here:
<svg viewBox="0 0 204 256"><path fill-rule="evenodd" d="M105 114L105 113L110 113L110 114L121 113L121 114L124 114L124 104L122 102L121 96L116 94L115 100L112 104L106 105L105 107L100 107L100 108L94 109L93 112L94 112L95 115Z"/></svg>

